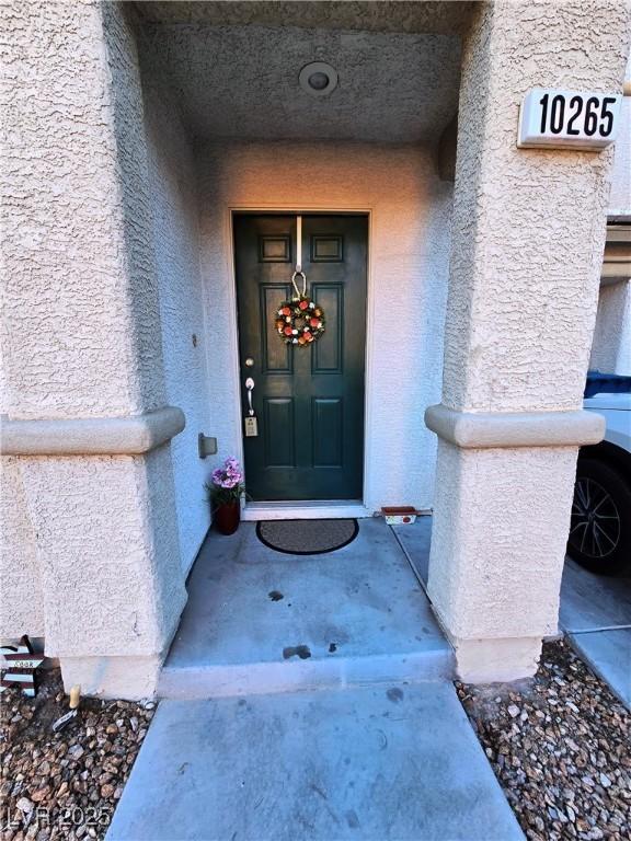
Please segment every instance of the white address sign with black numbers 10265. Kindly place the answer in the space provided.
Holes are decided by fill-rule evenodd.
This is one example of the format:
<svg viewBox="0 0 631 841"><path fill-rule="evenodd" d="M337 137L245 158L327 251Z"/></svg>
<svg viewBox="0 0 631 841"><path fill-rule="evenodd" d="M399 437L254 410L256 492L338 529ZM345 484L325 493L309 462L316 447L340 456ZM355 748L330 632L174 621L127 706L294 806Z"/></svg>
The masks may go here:
<svg viewBox="0 0 631 841"><path fill-rule="evenodd" d="M519 148L604 149L620 122L621 94L532 88L519 110Z"/></svg>

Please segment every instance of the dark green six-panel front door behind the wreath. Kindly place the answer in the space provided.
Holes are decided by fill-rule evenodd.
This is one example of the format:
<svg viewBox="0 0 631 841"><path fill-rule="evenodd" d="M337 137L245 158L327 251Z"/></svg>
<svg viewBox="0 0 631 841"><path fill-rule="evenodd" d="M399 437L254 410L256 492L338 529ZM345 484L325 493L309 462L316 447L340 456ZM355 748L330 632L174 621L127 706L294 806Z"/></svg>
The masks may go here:
<svg viewBox="0 0 631 841"><path fill-rule="evenodd" d="M255 500L362 499L368 220L302 216L307 293L326 327L303 346L276 326L292 297L296 229L296 216L234 217L241 406L245 418L251 378L257 433L243 438L246 489Z"/></svg>

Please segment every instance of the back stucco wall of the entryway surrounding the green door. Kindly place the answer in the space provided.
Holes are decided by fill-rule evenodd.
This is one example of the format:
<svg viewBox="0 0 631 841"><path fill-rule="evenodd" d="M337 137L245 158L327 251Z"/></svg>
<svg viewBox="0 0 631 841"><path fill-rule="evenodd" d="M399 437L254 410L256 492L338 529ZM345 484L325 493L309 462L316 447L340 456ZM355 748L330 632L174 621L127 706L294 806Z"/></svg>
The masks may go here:
<svg viewBox="0 0 631 841"><path fill-rule="evenodd" d="M451 185L416 147L252 142L198 150L211 430L241 451L230 208L369 209L365 502L432 505Z"/></svg>

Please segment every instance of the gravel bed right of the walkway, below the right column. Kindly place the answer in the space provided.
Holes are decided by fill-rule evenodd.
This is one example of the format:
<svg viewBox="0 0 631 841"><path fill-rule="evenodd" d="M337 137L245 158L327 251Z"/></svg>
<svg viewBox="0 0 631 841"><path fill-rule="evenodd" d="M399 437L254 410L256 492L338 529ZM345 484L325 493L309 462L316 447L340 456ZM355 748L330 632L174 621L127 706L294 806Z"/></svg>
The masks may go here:
<svg viewBox="0 0 631 841"><path fill-rule="evenodd" d="M565 642L520 691L457 689L528 839L631 839L630 715Z"/></svg>

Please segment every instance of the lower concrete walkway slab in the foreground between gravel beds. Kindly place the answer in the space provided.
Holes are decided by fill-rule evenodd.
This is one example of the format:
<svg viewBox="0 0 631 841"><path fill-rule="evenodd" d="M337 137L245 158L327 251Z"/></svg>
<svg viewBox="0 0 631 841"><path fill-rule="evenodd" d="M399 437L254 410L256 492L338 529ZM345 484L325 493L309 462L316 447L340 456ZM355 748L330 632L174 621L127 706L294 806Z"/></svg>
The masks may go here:
<svg viewBox="0 0 631 841"><path fill-rule="evenodd" d="M454 687L162 701L107 841L512 841Z"/></svg>

